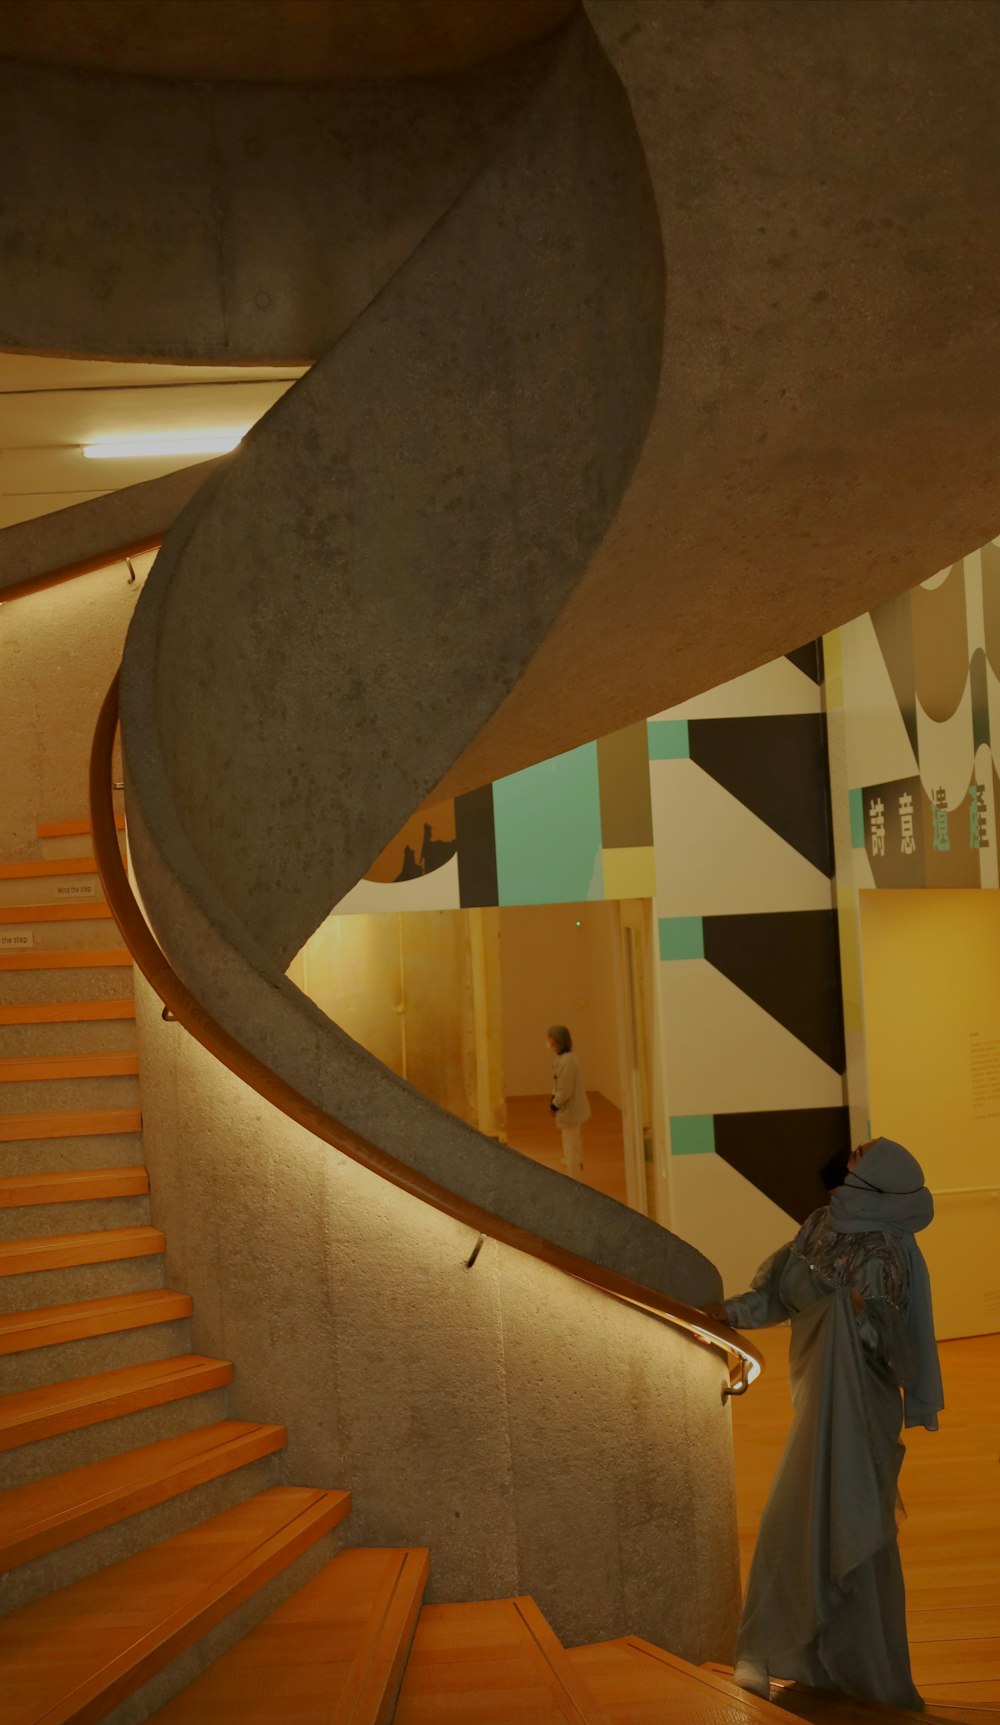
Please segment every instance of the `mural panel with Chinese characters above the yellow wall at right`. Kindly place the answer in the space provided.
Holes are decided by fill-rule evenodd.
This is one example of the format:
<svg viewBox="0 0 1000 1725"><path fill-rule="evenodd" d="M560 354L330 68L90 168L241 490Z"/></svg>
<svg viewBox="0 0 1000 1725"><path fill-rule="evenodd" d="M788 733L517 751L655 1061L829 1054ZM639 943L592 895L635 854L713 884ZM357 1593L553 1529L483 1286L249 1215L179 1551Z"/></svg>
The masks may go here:
<svg viewBox="0 0 1000 1725"><path fill-rule="evenodd" d="M1000 545L840 630L857 887L997 887Z"/></svg>

